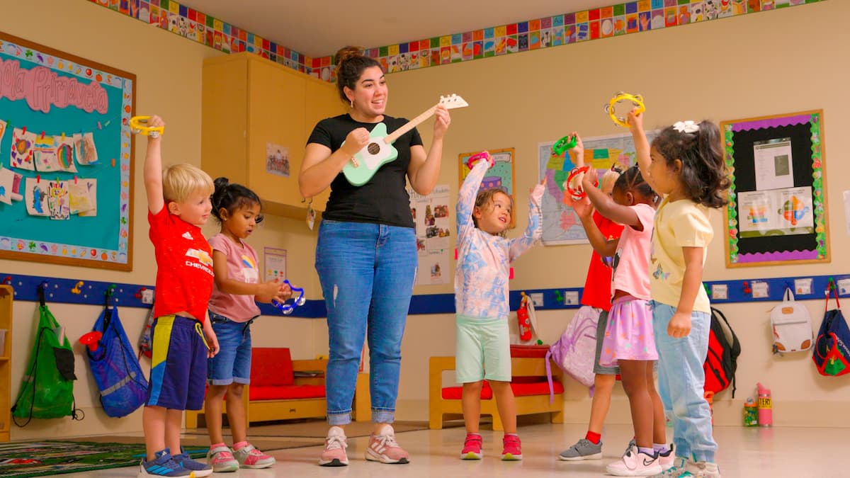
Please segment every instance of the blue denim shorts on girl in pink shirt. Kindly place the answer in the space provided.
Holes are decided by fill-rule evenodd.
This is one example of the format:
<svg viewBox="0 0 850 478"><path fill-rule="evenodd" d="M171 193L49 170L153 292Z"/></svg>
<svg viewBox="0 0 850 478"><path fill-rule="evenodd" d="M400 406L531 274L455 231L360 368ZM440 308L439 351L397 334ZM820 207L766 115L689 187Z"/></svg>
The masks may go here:
<svg viewBox="0 0 850 478"><path fill-rule="evenodd" d="M251 322L234 322L210 310L212 331L218 338L218 354L208 359L207 383L251 383Z"/></svg>

